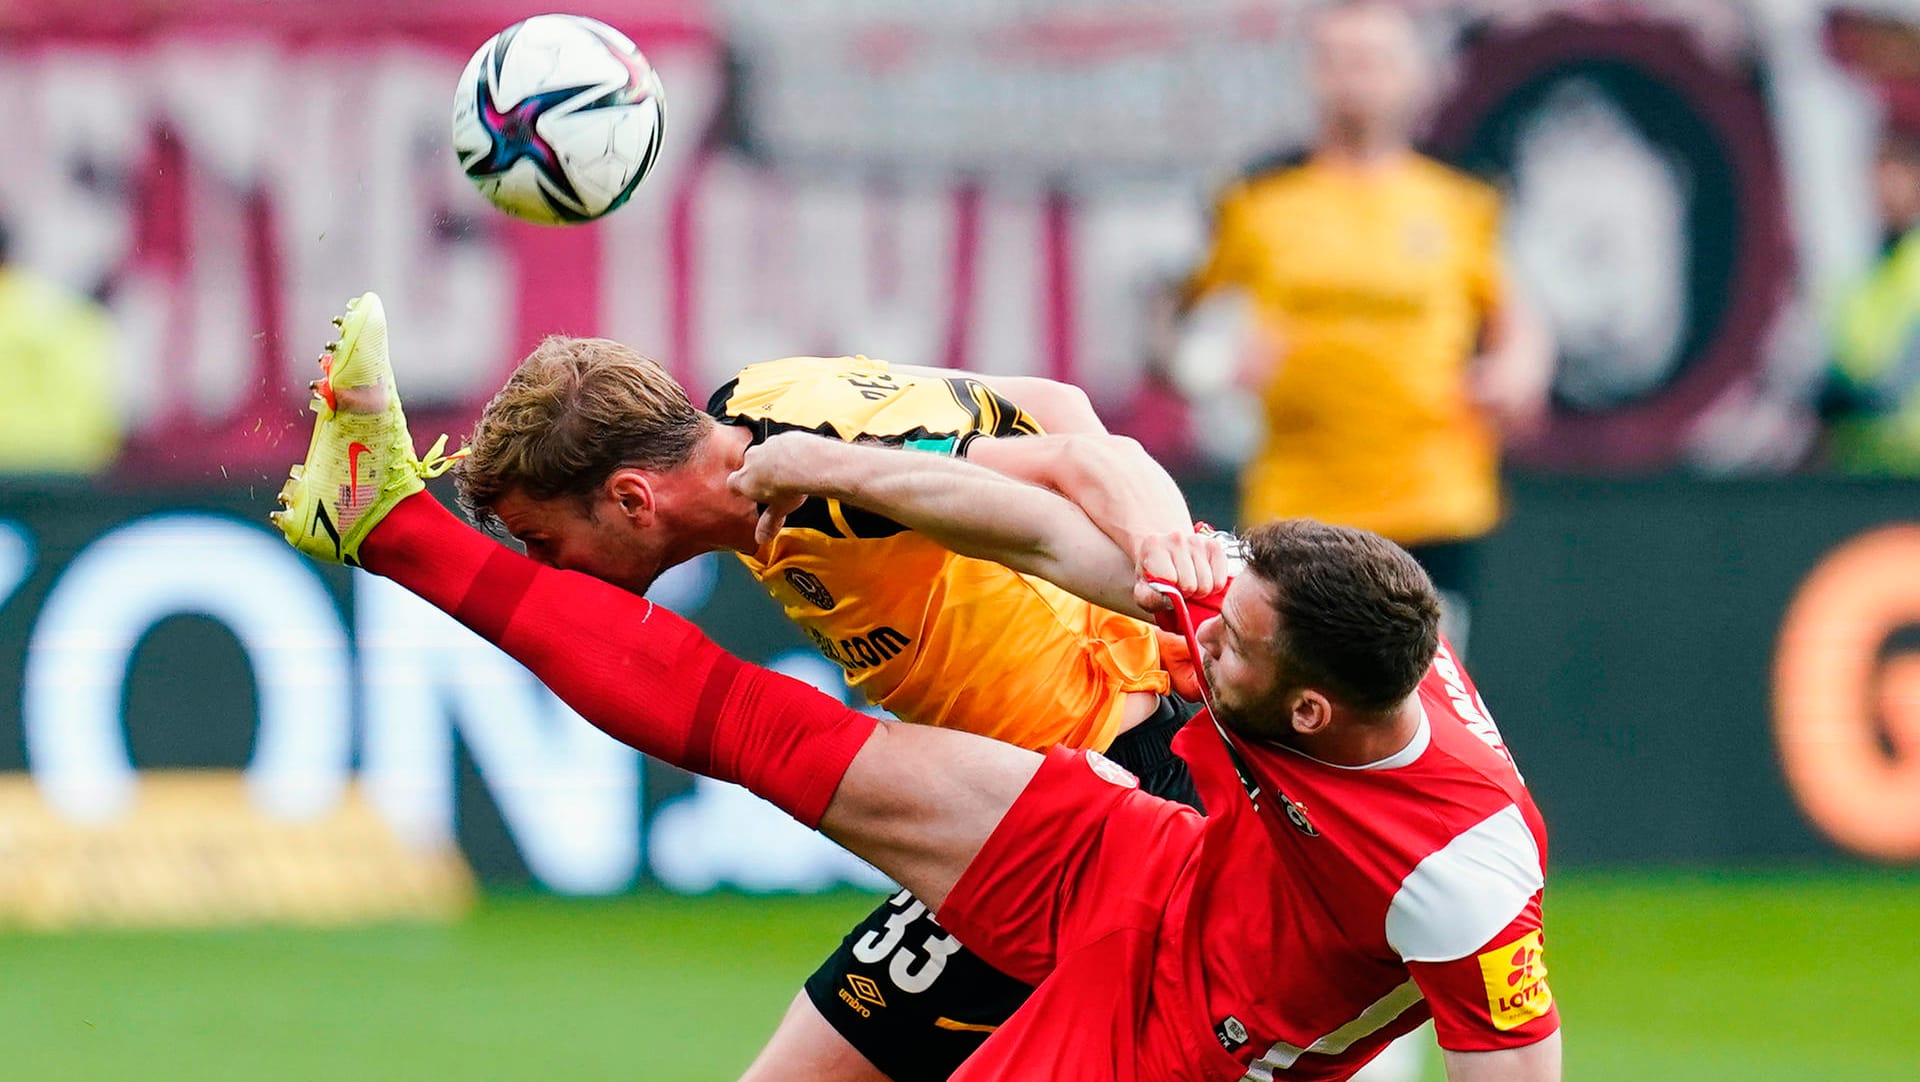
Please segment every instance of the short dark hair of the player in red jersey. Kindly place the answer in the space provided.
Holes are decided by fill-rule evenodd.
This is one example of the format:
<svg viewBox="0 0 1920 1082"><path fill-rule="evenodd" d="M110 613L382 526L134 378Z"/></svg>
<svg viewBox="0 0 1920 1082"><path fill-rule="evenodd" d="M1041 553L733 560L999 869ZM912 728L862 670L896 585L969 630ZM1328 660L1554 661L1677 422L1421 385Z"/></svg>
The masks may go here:
<svg viewBox="0 0 1920 1082"><path fill-rule="evenodd" d="M1440 595L1405 549L1365 529L1288 518L1244 537L1246 566L1273 585L1277 689L1392 710L1440 645Z"/></svg>

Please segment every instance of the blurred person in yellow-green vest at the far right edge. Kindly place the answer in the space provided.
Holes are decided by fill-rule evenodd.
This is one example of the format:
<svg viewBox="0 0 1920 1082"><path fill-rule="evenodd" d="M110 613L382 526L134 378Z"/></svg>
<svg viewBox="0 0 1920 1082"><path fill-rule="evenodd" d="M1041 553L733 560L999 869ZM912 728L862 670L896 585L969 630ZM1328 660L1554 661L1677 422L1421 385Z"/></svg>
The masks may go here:
<svg viewBox="0 0 1920 1082"><path fill-rule="evenodd" d="M1836 466L1920 476L1920 136L1887 132L1874 194L1880 259L1834 313L1820 414Z"/></svg>

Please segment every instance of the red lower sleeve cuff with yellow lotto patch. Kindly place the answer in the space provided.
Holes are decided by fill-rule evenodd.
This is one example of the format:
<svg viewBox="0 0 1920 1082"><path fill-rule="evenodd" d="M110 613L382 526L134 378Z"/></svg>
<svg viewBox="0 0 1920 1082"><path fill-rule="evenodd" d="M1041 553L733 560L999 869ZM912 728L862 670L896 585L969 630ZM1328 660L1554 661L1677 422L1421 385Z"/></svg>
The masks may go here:
<svg viewBox="0 0 1920 1082"><path fill-rule="evenodd" d="M1500 1051L1559 1030L1538 892L1475 953L1452 961L1409 961L1407 969L1427 996L1434 1036L1444 1049Z"/></svg>

